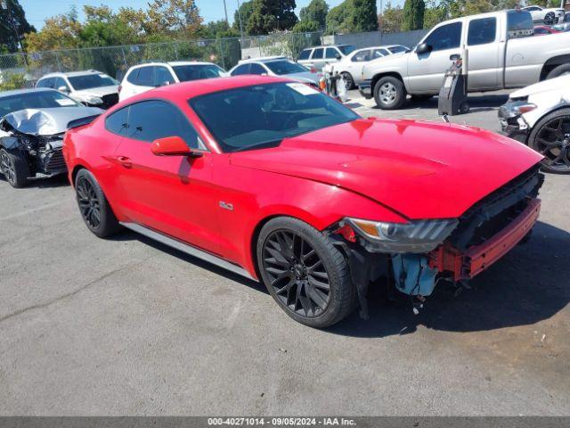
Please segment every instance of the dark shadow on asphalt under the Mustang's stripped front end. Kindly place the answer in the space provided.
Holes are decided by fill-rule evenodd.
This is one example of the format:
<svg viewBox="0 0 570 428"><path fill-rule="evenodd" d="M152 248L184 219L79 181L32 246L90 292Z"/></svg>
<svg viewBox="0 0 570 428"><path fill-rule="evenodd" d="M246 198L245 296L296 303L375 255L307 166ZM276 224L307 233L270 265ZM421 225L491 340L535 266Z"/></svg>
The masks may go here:
<svg viewBox="0 0 570 428"><path fill-rule="evenodd" d="M368 295L370 319L357 313L328 329L357 337L414 333L419 325L446 332L479 332L533 325L564 309L570 301L570 234L538 222L533 236L491 268L476 276L471 290L440 282L418 316L411 301L396 292L387 301L385 284L372 284ZM377 286L375 286L377 285Z"/></svg>

